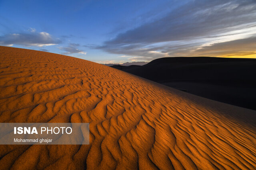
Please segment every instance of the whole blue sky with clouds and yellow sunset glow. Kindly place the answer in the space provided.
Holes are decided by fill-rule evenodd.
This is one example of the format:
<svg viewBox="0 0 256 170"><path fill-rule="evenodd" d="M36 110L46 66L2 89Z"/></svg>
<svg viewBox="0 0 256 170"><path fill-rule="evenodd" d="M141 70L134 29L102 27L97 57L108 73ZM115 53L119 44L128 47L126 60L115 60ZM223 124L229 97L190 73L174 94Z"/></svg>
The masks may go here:
<svg viewBox="0 0 256 170"><path fill-rule="evenodd" d="M105 64L256 58L256 0L0 0L0 45Z"/></svg>

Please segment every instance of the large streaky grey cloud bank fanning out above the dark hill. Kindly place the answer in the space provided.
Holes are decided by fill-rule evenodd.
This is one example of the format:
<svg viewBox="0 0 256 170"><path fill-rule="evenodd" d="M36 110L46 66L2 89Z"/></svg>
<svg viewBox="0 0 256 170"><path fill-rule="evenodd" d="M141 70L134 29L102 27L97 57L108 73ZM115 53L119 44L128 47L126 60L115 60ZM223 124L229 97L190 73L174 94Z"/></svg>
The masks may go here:
<svg viewBox="0 0 256 170"><path fill-rule="evenodd" d="M209 53L217 46L213 44L225 43L232 51L234 41L255 37L255 18L255 0L190 1L163 18L120 33L96 48L132 56L130 60L199 54L224 56L224 50ZM247 42L251 47L253 42ZM252 50L245 45L235 48L241 55Z"/></svg>

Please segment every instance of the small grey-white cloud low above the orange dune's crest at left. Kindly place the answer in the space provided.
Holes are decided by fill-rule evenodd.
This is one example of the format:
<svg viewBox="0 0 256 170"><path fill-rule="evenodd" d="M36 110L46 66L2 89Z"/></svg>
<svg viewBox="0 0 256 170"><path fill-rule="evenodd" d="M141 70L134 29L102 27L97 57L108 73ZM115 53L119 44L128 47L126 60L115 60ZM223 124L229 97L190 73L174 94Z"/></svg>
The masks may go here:
<svg viewBox="0 0 256 170"><path fill-rule="evenodd" d="M60 39L55 39L47 32L36 32L36 29L30 29L30 32L25 33L12 33L0 36L0 44L11 46L49 46L61 43Z"/></svg>

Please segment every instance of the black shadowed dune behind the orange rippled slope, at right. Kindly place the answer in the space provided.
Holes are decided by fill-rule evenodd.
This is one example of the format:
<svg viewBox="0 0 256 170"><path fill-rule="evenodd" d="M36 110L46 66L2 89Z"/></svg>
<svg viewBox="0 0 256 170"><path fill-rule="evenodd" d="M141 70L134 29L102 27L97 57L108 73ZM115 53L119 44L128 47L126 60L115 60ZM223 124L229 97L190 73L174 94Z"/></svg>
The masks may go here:
<svg viewBox="0 0 256 170"><path fill-rule="evenodd" d="M113 66L191 94L256 110L256 59L166 57Z"/></svg>

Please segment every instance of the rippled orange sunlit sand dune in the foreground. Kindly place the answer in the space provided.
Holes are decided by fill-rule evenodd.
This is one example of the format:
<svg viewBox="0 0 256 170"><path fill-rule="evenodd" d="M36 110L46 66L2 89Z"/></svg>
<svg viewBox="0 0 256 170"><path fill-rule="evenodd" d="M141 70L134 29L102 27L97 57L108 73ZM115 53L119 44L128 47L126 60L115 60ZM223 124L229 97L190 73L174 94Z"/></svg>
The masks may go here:
<svg viewBox="0 0 256 170"><path fill-rule="evenodd" d="M256 168L256 111L64 55L0 60L1 122L90 123L90 145L1 145L0 169Z"/></svg>

